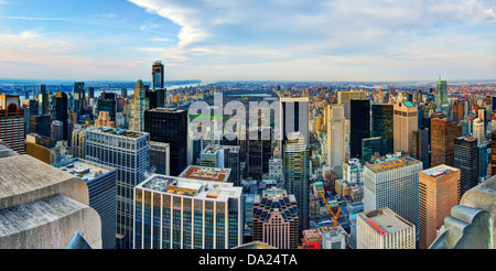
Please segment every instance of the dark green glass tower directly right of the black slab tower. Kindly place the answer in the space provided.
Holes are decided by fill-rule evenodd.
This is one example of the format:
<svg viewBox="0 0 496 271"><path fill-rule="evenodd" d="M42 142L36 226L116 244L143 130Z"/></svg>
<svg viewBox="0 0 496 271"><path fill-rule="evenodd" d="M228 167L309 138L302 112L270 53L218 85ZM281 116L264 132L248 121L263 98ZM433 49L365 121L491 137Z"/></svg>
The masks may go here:
<svg viewBox="0 0 496 271"><path fill-rule="evenodd" d="M393 105L371 105L371 137L381 137L380 155L393 153Z"/></svg>

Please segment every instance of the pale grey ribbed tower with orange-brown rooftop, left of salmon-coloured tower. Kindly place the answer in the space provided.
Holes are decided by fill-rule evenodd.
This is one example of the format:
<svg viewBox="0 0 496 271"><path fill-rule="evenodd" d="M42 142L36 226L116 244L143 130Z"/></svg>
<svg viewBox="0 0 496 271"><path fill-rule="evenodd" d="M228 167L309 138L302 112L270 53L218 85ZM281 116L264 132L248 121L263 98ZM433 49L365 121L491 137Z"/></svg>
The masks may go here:
<svg viewBox="0 0 496 271"><path fill-rule="evenodd" d="M419 172L422 170L422 162L409 156L365 165L365 212L389 207L418 225Z"/></svg>

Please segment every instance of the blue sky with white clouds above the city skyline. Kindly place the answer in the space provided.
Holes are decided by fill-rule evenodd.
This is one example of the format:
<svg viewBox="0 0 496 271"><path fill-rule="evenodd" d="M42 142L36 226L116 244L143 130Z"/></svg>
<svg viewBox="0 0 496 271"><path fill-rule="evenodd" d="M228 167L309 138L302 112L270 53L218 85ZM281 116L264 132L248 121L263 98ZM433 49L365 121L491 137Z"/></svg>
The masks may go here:
<svg viewBox="0 0 496 271"><path fill-rule="evenodd" d="M0 78L496 79L496 0L0 0Z"/></svg>

